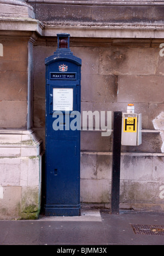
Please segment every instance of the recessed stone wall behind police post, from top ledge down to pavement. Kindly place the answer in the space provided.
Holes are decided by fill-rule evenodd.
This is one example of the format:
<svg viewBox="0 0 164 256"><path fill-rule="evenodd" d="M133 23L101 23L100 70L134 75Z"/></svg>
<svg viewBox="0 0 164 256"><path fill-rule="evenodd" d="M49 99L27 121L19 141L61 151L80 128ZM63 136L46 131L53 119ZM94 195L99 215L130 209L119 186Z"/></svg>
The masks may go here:
<svg viewBox="0 0 164 256"><path fill-rule="evenodd" d="M54 42L42 39L34 46L34 130L44 141L45 82L44 59L56 49ZM162 40L73 39L71 50L82 59L81 110L126 112L134 103L142 113L143 143L137 147L122 146L122 208L163 210L160 197L163 177L163 125L154 121L163 113L164 59L160 56ZM97 43L96 43L97 42ZM38 45L37 45L38 44ZM138 44L138 45L137 45ZM81 131L81 202L101 203L109 207L112 168L112 136L102 137L98 131ZM139 192L138 192L139 191Z"/></svg>

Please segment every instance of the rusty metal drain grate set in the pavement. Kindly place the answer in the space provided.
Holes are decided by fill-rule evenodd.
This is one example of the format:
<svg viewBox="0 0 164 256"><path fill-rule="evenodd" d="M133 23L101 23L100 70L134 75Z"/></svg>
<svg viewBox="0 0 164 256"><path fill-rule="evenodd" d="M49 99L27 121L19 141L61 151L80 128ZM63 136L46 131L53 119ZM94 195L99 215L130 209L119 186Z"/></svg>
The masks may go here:
<svg viewBox="0 0 164 256"><path fill-rule="evenodd" d="M164 236L164 226L131 224L136 235Z"/></svg>

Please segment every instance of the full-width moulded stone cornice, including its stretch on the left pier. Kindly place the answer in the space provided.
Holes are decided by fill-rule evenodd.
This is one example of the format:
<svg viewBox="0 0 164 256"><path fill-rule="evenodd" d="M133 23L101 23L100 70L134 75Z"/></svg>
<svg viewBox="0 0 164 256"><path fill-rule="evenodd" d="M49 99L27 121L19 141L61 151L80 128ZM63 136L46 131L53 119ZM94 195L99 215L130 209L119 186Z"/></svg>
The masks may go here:
<svg viewBox="0 0 164 256"><path fill-rule="evenodd" d="M93 24L66 22L40 22L36 19L0 16L0 31L32 31L40 36L54 37L57 33L70 33L71 37L79 38L151 38L163 39L162 24Z"/></svg>

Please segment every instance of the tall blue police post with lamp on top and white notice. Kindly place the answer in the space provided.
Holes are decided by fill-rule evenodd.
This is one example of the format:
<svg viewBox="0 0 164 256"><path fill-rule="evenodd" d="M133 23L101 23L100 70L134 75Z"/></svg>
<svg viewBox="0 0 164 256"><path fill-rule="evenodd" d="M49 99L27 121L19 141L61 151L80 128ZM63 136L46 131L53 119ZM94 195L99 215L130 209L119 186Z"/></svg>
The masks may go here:
<svg viewBox="0 0 164 256"><path fill-rule="evenodd" d="M80 113L81 59L69 37L57 34L57 49L45 59L45 216L80 215L80 129L69 127Z"/></svg>

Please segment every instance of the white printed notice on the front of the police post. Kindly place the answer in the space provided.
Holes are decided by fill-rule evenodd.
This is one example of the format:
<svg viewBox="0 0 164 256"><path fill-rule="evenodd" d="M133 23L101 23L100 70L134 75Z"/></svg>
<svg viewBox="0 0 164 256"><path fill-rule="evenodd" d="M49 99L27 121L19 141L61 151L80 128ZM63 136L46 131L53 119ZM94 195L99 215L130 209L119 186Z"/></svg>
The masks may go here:
<svg viewBox="0 0 164 256"><path fill-rule="evenodd" d="M73 111L73 88L53 88L53 111Z"/></svg>

